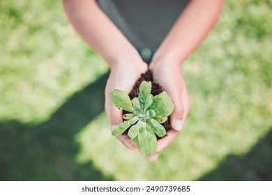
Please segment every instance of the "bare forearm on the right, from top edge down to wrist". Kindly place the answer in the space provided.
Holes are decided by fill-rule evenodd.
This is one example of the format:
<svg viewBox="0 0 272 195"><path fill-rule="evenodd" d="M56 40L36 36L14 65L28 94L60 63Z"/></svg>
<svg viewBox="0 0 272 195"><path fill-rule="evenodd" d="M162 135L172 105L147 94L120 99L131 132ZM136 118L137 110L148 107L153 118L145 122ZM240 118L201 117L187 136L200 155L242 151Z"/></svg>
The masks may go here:
<svg viewBox="0 0 272 195"><path fill-rule="evenodd" d="M191 0L153 57L153 63L181 64L202 43L218 21L223 0Z"/></svg>

